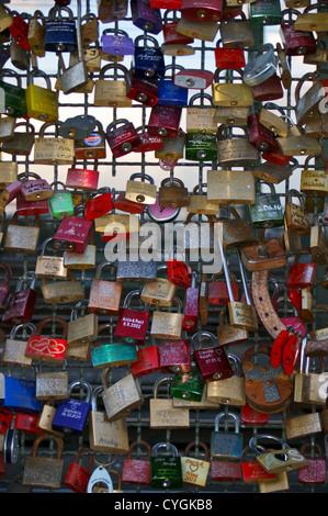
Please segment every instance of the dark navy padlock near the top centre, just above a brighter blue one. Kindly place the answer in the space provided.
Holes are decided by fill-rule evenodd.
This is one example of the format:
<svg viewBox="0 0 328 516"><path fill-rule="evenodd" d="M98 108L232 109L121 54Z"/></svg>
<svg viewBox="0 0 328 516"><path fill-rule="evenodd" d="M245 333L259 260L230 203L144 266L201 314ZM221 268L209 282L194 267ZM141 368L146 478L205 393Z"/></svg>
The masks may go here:
<svg viewBox="0 0 328 516"><path fill-rule="evenodd" d="M143 40L145 46L139 46L139 41ZM154 46L147 46L146 43L151 41ZM166 66L165 58L157 41L152 36L137 36L135 38L135 53L134 53L134 70L135 77L145 79L160 79L165 76Z"/></svg>

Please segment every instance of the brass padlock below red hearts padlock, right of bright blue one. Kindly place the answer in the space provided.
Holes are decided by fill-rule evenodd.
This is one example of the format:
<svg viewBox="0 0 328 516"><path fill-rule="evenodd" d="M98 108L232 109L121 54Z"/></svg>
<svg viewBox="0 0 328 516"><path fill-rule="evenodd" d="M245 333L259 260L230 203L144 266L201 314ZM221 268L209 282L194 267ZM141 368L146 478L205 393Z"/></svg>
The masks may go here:
<svg viewBox="0 0 328 516"><path fill-rule="evenodd" d="M68 371L63 362L61 371L43 371L37 368L35 378L35 396L37 400L66 400L68 397Z"/></svg>

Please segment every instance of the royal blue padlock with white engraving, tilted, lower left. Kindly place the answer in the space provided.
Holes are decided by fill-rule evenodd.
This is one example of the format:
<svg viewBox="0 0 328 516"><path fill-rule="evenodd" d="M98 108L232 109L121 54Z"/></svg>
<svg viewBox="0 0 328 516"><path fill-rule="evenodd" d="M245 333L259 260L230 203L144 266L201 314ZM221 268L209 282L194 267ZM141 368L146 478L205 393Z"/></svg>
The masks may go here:
<svg viewBox="0 0 328 516"><path fill-rule="evenodd" d="M77 388L83 388L87 391L86 401L69 397L63 400L53 419L53 429L65 431L67 434L81 434L87 423L89 411L91 410L92 386L89 382L79 380L70 383L68 386L68 395Z"/></svg>

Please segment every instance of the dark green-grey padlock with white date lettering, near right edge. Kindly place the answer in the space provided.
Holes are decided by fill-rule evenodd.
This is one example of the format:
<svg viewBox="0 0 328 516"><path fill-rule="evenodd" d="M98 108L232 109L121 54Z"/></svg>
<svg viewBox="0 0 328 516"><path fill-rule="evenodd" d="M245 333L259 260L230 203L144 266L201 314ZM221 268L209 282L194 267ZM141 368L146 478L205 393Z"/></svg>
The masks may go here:
<svg viewBox="0 0 328 516"><path fill-rule="evenodd" d="M267 184L270 193L256 193L256 202L249 206L253 227L279 227L284 225L284 215L280 195L275 193L274 186L265 181L258 181L257 186Z"/></svg>

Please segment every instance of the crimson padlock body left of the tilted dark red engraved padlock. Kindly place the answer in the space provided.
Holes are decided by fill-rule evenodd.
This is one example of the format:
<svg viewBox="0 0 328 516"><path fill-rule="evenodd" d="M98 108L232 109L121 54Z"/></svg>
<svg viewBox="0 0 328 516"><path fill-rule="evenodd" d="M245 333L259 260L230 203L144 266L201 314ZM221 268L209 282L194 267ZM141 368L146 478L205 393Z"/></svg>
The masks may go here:
<svg viewBox="0 0 328 516"><path fill-rule="evenodd" d="M160 340L159 367L162 373L190 372L192 369L190 340Z"/></svg>

